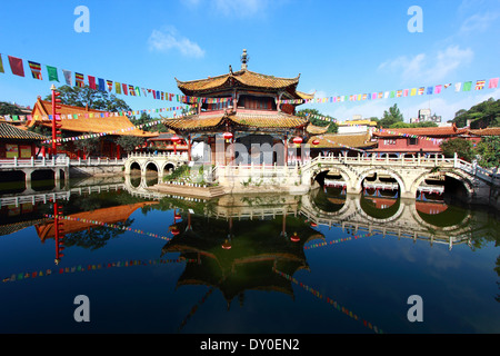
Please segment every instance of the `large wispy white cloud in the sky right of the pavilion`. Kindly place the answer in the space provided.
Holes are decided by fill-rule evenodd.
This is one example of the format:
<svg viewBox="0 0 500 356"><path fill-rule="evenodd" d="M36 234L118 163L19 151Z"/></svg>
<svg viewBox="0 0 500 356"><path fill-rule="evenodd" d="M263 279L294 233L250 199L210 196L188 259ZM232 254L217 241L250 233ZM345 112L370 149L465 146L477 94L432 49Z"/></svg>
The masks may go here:
<svg viewBox="0 0 500 356"><path fill-rule="evenodd" d="M460 49L459 46L449 46L432 57L419 53L411 58L401 56L388 60L379 66L379 70L400 73L403 81L421 80L422 78L440 80L459 67L469 65L473 56L470 48Z"/></svg>

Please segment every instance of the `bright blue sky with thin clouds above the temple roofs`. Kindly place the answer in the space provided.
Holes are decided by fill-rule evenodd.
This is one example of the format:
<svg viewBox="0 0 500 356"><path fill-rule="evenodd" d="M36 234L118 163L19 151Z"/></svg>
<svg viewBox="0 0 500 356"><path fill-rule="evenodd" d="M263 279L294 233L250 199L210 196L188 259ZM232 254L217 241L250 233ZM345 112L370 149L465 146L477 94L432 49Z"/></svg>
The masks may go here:
<svg viewBox="0 0 500 356"><path fill-rule="evenodd" d="M78 6L90 32L77 32ZM410 32L411 6L422 9L422 32ZM0 100L32 106L50 92L44 66L143 88L181 93L176 79L194 80L239 69L246 48L252 71L292 78L317 97L357 95L500 77L500 0L17 0L0 12ZM7 56L24 60L13 76ZM31 78L28 60L42 65ZM488 82L487 82L488 85ZM177 102L126 97L133 110ZM452 119L499 89L308 103L340 120L381 117L398 103L406 121L420 108Z"/></svg>

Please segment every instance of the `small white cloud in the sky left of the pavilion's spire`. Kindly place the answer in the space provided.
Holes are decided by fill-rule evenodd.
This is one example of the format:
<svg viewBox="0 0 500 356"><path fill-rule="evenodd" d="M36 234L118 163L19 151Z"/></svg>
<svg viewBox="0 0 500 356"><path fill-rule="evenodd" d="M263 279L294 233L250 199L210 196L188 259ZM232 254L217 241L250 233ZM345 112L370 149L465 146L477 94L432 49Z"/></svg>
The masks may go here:
<svg viewBox="0 0 500 356"><path fill-rule="evenodd" d="M151 51L167 52L177 50L182 56L201 58L204 50L198 43L182 37L173 27L169 27L163 31L153 30L148 39L149 49Z"/></svg>

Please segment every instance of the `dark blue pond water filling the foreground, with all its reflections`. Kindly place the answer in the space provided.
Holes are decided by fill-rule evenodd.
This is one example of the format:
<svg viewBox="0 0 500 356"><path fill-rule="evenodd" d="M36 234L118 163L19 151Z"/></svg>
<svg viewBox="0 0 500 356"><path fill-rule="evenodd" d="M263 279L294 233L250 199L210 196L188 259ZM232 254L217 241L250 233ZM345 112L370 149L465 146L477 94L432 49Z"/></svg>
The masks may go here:
<svg viewBox="0 0 500 356"><path fill-rule="evenodd" d="M483 208L334 188L203 201L121 178L0 198L1 333L500 333Z"/></svg>

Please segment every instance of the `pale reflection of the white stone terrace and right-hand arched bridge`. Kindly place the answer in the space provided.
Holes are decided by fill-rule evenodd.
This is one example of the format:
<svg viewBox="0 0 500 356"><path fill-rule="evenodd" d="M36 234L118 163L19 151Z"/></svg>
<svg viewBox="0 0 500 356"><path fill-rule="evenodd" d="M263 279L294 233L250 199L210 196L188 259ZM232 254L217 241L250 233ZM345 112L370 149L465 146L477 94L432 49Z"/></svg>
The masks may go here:
<svg viewBox="0 0 500 356"><path fill-rule="evenodd" d="M348 195L344 200L339 199L337 211L326 211L314 202L318 191L303 196L286 196L284 201L277 200L277 197L266 200L257 196L238 198L226 196L207 212L211 217L221 219L256 220L282 215L302 215L317 226L340 227L343 231L351 234L370 233L398 239L427 240L431 245L434 243L446 244L450 249L453 245L469 243L472 234L472 228L468 224L471 218L470 214L467 214L457 225L438 227L420 216L417 209L419 202L414 199L398 199L394 200L398 204L392 206L391 216L376 218L364 211L360 196L354 195ZM444 208L433 208L433 211L438 214Z"/></svg>

